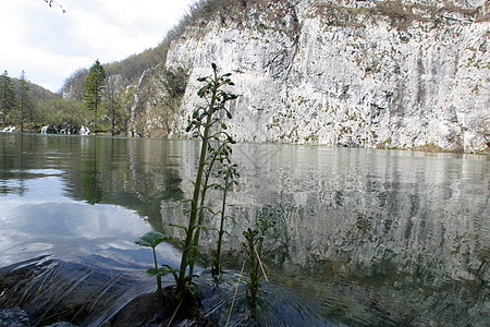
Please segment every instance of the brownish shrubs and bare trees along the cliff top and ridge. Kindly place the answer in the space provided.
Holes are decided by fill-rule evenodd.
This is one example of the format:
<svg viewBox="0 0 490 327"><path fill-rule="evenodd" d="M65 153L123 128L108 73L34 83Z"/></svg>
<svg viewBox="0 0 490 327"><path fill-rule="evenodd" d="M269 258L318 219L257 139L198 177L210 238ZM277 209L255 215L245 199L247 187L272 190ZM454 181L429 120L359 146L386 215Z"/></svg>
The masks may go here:
<svg viewBox="0 0 490 327"><path fill-rule="evenodd" d="M278 4L297 4L301 0L199 0L188 8L187 13L172 27L162 41L155 48L142 53L135 53L128 58L106 63L105 70L108 76L120 75L126 85L138 82L143 72L166 62L167 53L172 43L183 37L191 27L204 27L211 21L222 25L232 22L243 25L249 17L247 11L255 10L260 13L271 12L270 8ZM468 22L490 21L488 2L466 1L310 1L313 14L321 16L328 25L364 27L366 20L388 17L394 27L405 29L414 22L431 22L434 26L444 22L466 20ZM280 15L275 15L280 19ZM274 15L268 15L273 20ZM201 28L195 28L200 31ZM75 98L81 98L81 85L84 84L88 73L87 69L81 69L69 76L62 92Z"/></svg>

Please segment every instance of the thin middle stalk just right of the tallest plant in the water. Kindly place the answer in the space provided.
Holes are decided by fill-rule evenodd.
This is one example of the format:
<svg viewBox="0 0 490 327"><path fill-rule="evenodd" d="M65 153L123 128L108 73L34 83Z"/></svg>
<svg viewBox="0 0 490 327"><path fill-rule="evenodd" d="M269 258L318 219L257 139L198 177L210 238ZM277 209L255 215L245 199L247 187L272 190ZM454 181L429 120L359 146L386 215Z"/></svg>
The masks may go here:
<svg viewBox="0 0 490 327"><path fill-rule="evenodd" d="M226 159L228 159L228 157L226 157ZM228 194L228 190L231 189L234 184L236 184L236 178L240 178L240 174L236 172L236 168L237 168L236 164L231 165L230 162L226 162L223 165L223 169L221 169L219 171L219 173L222 174L222 177L223 177L223 184L217 185L217 189L223 191L223 199L221 202L221 210L219 211L221 219L220 219L220 229L218 230L218 247L216 251L216 257L212 259L212 268L211 268L212 275L215 275L215 276L220 275L221 269L224 265L224 264L221 264L221 262L220 262L221 245L223 242L223 234L225 233L224 220L226 218L230 218L233 220L232 217L225 215L226 194Z"/></svg>

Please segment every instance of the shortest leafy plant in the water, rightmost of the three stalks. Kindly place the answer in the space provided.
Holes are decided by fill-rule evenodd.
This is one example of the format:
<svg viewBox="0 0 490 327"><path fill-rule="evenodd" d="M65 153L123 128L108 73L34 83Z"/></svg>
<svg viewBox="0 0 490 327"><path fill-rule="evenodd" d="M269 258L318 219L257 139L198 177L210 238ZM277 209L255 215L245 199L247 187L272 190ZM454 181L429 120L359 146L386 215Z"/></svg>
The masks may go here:
<svg viewBox="0 0 490 327"><path fill-rule="evenodd" d="M275 222L270 220L270 218L271 215L269 215L266 219L260 218L258 228L254 230L248 228L243 232L243 235L245 237L245 243L243 243L243 246L249 262L249 281L247 281L248 287L246 296L248 305L253 311L257 307L259 282L264 278L267 279L260 257L262 256L264 239L267 235L267 231L275 225Z"/></svg>

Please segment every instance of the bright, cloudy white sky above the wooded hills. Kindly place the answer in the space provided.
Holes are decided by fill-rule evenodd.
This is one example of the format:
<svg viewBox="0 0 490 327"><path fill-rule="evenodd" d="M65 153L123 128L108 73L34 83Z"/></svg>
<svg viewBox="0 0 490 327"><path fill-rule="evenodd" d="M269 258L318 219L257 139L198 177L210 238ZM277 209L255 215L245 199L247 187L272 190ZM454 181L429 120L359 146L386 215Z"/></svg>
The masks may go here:
<svg viewBox="0 0 490 327"><path fill-rule="evenodd" d="M58 92L79 68L156 47L195 0L0 0L0 74Z"/></svg>

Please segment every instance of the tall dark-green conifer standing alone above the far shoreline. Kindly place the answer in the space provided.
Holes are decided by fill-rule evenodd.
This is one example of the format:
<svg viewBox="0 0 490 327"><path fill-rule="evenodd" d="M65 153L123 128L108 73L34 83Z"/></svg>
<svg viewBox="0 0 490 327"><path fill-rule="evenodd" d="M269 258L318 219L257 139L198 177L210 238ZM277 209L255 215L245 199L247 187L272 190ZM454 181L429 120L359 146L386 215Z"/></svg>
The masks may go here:
<svg viewBox="0 0 490 327"><path fill-rule="evenodd" d="M97 133L97 109L102 101L105 82L106 72L97 59L90 66L85 81L85 102L88 110L94 110L94 133Z"/></svg>

